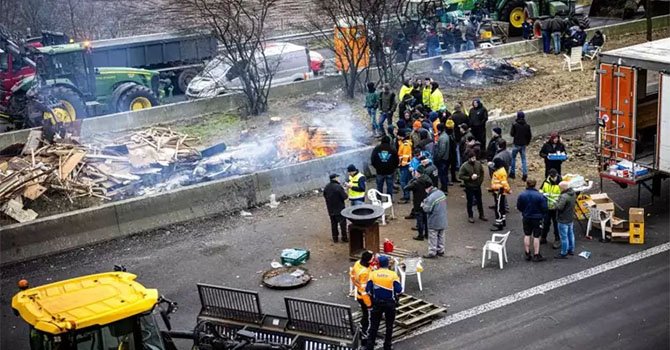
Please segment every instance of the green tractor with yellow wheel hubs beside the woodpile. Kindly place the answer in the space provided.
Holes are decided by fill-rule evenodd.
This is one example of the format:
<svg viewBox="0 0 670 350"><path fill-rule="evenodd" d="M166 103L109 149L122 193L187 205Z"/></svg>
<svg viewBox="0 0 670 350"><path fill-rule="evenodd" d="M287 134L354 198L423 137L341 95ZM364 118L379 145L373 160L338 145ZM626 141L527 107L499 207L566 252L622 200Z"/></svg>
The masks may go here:
<svg viewBox="0 0 670 350"><path fill-rule="evenodd" d="M94 67L87 42L36 48L31 58L37 74L12 89L9 109L26 126L151 108L164 91L158 72Z"/></svg>

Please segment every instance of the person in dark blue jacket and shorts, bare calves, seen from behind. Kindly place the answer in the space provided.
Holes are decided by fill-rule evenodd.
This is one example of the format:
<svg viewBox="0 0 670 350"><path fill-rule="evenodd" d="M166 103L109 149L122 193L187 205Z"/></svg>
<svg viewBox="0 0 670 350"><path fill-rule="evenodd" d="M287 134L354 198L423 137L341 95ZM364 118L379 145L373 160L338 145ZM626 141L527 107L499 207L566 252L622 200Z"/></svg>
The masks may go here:
<svg viewBox="0 0 670 350"><path fill-rule="evenodd" d="M534 179L526 181L526 190L521 192L516 201L516 208L521 212L523 218L523 247L526 253L526 261L544 261L540 254L540 236L542 236L542 220L548 210L547 199L535 186ZM533 239L533 255L530 255L530 240Z"/></svg>

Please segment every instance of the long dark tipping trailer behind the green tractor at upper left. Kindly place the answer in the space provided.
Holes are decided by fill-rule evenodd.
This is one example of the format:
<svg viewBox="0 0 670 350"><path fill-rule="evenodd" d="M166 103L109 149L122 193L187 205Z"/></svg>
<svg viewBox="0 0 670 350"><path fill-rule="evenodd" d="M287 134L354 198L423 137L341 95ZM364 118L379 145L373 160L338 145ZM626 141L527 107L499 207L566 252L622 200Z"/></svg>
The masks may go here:
<svg viewBox="0 0 670 350"><path fill-rule="evenodd" d="M182 92L204 64L216 57L218 41L211 33L159 33L91 43L94 67L155 70Z"/></svg>

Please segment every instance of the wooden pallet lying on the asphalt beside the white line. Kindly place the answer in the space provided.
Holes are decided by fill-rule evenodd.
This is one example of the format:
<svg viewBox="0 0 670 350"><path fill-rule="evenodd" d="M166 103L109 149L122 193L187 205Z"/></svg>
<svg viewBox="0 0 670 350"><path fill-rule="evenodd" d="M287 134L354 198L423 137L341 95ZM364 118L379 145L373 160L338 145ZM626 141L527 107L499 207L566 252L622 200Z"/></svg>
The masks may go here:
<svg viewBox="0 0 670 350"><path fill-rule="evenodd" d="M396 319L393 323L393 339L430 324L445 312L447 312L446 308L404 294L400 297L400 306L396 308ZM361 312L355 312L352 317L355 324L358 324L361 320ZM382 339L385 332L386 324L382 319L377 332L378 339Z"/></svg>

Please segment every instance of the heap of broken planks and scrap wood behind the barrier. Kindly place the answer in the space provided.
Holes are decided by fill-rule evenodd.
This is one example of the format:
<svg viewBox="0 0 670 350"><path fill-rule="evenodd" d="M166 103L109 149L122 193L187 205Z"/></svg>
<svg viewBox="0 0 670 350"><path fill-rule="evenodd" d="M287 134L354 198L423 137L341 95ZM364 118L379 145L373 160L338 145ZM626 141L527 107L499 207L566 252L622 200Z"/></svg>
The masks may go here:
<svg viewBox="0 0 670 350"><path fill-rule="evenodd" d="M47 190L62 192L71 202L83 196L109 200L132 195L143 175L198 159L190 141L194 139L167 128L150 128L111 144L83 145L73 139L47 142L41 131L33 130L23 149L0 156L0 212L18 222L34 220L38 214L26 209L24 201Z"/></svg>

